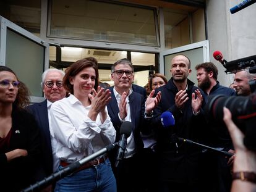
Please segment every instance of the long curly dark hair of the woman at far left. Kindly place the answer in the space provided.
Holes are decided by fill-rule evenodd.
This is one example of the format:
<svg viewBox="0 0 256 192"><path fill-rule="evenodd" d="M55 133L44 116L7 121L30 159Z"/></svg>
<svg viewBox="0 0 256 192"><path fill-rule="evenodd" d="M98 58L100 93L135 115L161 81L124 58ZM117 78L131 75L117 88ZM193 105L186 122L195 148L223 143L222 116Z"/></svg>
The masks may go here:
<svg viewBox="0 0 256 192"><path fill-rule="evenodd" d="M13 70L11 70L9 67L6 66L0 66L0 72L11 72L15 75L15 77L17 78L17 80L20 82L19 85L19 90L16 96L16 99L14 101L14 103L12 104L12 106L17 107L17 108L25 108L29 105L30 103L30 91L28 90L27 86L19 80L19 78L17 77L17 75L14 73Z"/></svg>

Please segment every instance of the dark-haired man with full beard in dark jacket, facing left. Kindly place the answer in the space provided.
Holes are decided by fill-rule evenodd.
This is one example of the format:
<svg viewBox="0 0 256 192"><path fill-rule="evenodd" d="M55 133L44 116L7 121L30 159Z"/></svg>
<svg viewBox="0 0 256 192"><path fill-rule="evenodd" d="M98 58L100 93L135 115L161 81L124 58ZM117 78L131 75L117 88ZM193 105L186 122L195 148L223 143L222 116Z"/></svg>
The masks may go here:
<svg viewBox="0 0 256 192"><path fill-rule="evenodd" d="M198 87L207 96L224 95L236 96L236 91L231 88L221 86L218 78L218 69L212 62L205 62L195 66L197 70ZM220 124L220 123L219 123ZM223 125L215 125L214 122L207 122L205 127L205 140L203 144L221 149L223 151L234 152L233 144L228 133L228 129ZM228 192L231 190L231 169L228 158L223 154L213 151L205 151L202 162L202 185L209 188L208 191ZM206 176L206 177L205 177Z"/></svg>

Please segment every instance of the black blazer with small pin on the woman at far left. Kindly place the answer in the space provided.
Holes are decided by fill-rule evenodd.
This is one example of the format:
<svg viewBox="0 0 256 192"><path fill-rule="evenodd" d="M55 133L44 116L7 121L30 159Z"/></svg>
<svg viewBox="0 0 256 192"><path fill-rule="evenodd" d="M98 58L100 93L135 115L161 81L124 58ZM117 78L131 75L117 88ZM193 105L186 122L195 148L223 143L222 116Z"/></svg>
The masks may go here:
<svg viewBox="0 0 256 192"><path fill-rule="evenodd" d="M24 109L12 110L11 138L8 149L0 149L1 191L20 191L36 182L40 159L39 128L32 114ZM6 152L26 149L28 155L7 162Z"/></svg>

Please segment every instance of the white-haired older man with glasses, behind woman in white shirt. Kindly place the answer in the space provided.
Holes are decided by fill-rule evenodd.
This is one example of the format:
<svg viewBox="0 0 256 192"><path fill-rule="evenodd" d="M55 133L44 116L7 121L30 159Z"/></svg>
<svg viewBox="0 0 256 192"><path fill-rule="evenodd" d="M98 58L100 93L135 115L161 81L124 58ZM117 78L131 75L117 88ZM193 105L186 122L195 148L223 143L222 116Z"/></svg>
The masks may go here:
<svg viewBox="0 0 256 192"><path fill-rule="evenodd" d="M33 104L28 109L35 116L36 122L40 127L42 154L38 175L36 179L42 180L46 176L58 169L58 160L54 152L54 140L50 134L49 109L51 104L66 96L66 90L62 86L62 78L65 73L58 69L48 69L42 75L41 86L45 94L45 101ZM53 148L52 148L53 147Z"/></svg>

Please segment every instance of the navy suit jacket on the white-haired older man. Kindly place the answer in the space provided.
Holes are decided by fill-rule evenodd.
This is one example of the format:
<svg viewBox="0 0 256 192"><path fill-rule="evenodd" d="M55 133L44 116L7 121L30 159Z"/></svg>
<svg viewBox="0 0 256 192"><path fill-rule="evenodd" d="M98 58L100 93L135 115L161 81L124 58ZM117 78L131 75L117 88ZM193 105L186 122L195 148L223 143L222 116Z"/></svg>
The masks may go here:
<svg viewBox="0 0 256 192"><path fill-rule="evenodd" d="M40 128L42 157L37 179L41 180L53 173L53 152L51 149L47 100L45 99L43 102L33 104L29 106L28 109L35 116L36 122Z"/></svg>

